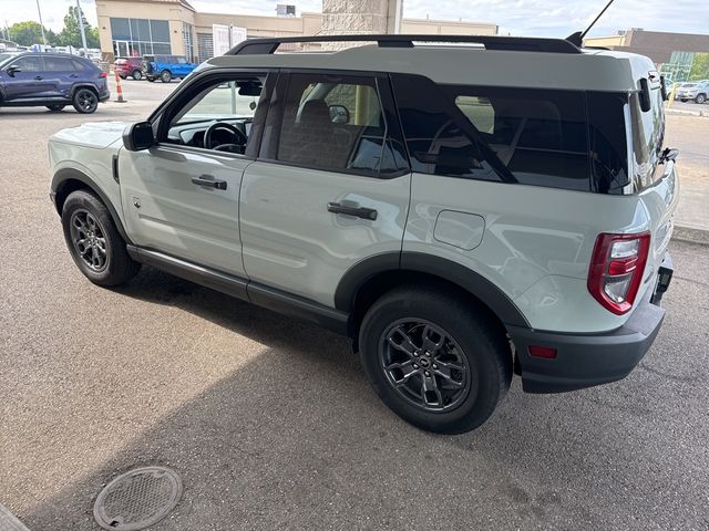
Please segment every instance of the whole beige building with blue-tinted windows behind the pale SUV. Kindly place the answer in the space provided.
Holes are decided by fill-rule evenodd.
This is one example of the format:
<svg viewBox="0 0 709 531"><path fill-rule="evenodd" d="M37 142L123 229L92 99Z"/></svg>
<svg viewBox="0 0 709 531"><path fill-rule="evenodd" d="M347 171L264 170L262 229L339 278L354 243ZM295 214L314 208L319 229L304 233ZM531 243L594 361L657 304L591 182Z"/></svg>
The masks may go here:
<svg viewBox="0 0 709 531"><path fill-rule="evenodd" d="M215 54L215 38L219 39L219 31L229 25L246 30L247 39L322 33L322 13L300 13L295 17L291 6L279 8L277 11L274 3L274 13L282 15L259 17L203 13L186 0L96 0L101 52L110 62L116 56L156 53L186 55L202 62ZM400 32L494 35L497 34L497 25L401 19Z"/></svg>

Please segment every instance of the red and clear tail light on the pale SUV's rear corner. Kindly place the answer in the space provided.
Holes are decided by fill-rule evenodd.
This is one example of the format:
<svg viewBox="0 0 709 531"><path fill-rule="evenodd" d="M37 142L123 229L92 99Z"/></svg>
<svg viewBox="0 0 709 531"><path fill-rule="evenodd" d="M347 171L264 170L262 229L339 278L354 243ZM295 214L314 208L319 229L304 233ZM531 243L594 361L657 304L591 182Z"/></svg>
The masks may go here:
<svg viewBox="0 0 709 531"><path fill-rule="evenodd" d="M588 269L588 291L606 310L623 315L643 282L650 233L599 235Z"/></svg>

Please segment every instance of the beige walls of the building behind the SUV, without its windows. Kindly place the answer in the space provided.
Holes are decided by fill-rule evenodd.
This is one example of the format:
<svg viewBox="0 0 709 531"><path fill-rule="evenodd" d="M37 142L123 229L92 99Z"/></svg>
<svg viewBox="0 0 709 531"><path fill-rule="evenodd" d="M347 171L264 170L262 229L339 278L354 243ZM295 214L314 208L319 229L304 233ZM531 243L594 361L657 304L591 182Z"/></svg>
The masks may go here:
<svg viewBox="0 0 709 531"><path fill-rule="evenodd" d="M363 1L373 2L373 0ZM249 38L302 37L327 32L327 28L323 28L322 13L301 13L300 17L202 13L197 12L186 0L96 0L96 15L99 19L101 51L104 58L111 62L114 59L114 49L110 19L114 17L167 20L172 53L175 55L184 53L183 22L192 25L192 42L195 55L197 54L197 33L212 34L212 24L233 24L246 28L246 34ZM386 19L384 14L382 17ZM400 32L413 34L493 35L497 33L497 25L476 22L402 19ZM356 31L348 31L348 33L356 33Z"/></svg>

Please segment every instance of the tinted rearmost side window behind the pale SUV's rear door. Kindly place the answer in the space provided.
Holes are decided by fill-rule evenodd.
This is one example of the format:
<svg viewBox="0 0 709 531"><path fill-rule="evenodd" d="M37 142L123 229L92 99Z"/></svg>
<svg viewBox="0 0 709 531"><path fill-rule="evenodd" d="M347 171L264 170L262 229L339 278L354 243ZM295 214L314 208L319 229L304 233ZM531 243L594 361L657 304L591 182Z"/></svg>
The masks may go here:
<svg viewBox="0 0 709 531"><path fill-rule="evenodd" d="M583 92L393 80L415 171L590 189Z"/></svg>

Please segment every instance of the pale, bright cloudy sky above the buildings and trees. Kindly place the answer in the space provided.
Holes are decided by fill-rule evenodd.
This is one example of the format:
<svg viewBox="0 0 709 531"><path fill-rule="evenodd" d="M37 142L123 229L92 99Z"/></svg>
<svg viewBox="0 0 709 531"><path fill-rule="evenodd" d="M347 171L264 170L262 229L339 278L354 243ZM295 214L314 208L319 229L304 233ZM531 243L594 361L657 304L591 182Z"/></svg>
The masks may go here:
<svg viewBox="0 0 709 531"><path fill-rule="evenodd" d="M0 0L0 23L39 21L38 0ZM95 25L94 0L80 0ZM275 14L276 3L295 3L298 14L318 12L321 0L188 0L197 11L234 14ZM59 31L76 0L39 0L45 27ZM403 0L405 18L491 22L501 34L566 37L585 29L606 0ZM138 13L136 13L136 17ZM589 35L644 28L680 33L709 33L709 2L702 0L615 0Z"/></svg>

